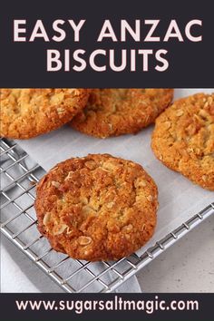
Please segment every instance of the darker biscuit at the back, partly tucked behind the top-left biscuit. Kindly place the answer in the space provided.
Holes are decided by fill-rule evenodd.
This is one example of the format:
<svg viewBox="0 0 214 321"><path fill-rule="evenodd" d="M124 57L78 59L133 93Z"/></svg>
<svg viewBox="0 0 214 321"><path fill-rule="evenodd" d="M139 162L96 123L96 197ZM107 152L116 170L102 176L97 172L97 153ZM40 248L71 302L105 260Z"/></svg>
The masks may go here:
<svg viewBox="0 0 214 321"><path fill-rule="evenodd" d="M71 125L100 138L135 133L154 122L172 96L172 89L94 89Z"/></svg>

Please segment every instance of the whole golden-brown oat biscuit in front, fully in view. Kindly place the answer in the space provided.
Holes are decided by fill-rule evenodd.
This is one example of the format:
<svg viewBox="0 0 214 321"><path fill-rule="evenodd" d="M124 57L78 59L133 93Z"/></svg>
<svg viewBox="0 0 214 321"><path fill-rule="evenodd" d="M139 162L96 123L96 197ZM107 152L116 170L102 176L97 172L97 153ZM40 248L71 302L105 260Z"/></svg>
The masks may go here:
<svg viewBox="0 0 214 321"><path fill-rule="evenodd" d="M129 256L151 238L157 187L141 165L108 154L56 165L37 186L38 229L72 258Z"/></svg>

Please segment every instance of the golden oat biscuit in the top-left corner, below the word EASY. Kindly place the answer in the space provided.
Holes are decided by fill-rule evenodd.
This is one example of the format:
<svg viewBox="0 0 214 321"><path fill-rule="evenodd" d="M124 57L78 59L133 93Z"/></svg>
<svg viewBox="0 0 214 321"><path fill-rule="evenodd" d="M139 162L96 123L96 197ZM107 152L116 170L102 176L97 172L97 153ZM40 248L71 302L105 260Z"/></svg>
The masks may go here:
<svg viewBox="0 0 214 321"><path fill-rule="evenodd" d="M28 139L61 127L85 106L86 89L1 89L3 137Z"/></svg>

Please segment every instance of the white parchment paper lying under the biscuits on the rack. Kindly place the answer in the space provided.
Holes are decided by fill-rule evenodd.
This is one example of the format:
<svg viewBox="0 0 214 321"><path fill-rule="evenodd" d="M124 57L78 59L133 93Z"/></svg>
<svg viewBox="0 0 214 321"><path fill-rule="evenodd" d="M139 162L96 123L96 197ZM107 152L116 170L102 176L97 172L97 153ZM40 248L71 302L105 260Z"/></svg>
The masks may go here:
<svg viewBox="0 0 214 321"><path fill-rule="evenodd" d="M174 99L195 92L214 92L214 88L176 89ZM213 192L194 185L156 160L151 151L152 130L153 126L150 126L137 135L102 140L86 136L65 125L49 134L17 142L44 170L50 170L59 161L88 153L110 153L140 163L156 181L160 202L156 231L153 238L138 251L141 254L214 200Z"/></svg>

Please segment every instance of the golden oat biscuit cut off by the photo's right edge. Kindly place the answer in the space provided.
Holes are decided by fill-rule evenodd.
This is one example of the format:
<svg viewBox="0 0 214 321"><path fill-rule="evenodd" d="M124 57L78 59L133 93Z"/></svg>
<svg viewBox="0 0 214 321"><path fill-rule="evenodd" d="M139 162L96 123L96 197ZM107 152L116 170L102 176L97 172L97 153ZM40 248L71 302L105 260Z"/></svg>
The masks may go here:
<svg viewBox="0 0 214 321"><path fill-rule="evenodd" d="M161 113L151 148L171 170L214 190L214 93L182 98Z"/></svg>

